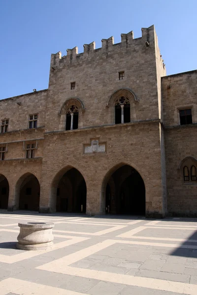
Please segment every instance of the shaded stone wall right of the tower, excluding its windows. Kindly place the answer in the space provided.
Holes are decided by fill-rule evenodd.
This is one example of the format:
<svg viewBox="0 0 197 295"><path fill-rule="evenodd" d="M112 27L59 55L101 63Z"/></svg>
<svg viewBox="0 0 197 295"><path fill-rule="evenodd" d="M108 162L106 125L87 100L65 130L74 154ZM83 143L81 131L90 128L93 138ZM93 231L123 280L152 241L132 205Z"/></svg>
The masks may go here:
<svg viewBox="0 0 197 295"><path fill-rule="evenodd" d="M186 157L197 159L197 71L163 77L162 94L168 214L197 216L197 183L184 183L180 167ZM179 108L187 107L193 108L193 124L180 126Z"/></svg>

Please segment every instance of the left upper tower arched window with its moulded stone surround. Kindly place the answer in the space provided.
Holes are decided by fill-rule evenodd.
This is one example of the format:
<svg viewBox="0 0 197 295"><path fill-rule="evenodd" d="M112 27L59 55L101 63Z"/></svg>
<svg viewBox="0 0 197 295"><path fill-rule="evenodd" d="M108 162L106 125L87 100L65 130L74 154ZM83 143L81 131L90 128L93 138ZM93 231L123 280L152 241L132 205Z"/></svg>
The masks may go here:
<svg viewBox="0 0 197 295"><path fill-rule="evenodd" d="M84 105L79 98L67 99L61 107L59 115L60 130L73 130L82 127L82 112L85 111Z"/></svg>

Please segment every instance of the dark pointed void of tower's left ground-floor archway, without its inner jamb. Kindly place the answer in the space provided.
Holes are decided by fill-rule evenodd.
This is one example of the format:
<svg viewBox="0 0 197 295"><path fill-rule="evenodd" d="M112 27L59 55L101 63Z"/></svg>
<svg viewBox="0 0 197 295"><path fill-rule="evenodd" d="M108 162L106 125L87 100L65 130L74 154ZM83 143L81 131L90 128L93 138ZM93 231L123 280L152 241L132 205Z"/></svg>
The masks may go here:
<svg viewBox="0 0 197 295"><path fill-rule="evenodd" d="M57 212L86 213L86 182L82 174L71 168L57 181Z"/></svg>

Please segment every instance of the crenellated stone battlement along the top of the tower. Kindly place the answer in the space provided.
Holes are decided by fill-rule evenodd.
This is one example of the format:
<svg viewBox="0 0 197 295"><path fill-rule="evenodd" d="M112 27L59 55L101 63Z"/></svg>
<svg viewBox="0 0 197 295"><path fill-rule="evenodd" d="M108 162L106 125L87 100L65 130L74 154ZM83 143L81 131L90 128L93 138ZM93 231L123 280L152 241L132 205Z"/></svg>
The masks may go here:
<svg viewBox="0 0 197 295"><path fill-rule="evenodd" d="M58 52L56 54L51 55L51 69L54 71L55 69L62 67L63 65L71 65L75 63L76 60L81 59L89 59L96 58L95 54L98 52L108 57L109 54L116 53L117 50L139 50L139 47L143 47L145 50L151 50L155 46L155 28L154 25L149 28L142 28L142 36L139 38L135 38L133 36L133 31L129 33L121 34L121 42L114 44L114 37L111 36L108 39L102 39L101 44L102 47L96 49L95 41L90 44L84 44L84 52L78 54L78 47L74 47L72 49L67 49L67 55L62 57L62 53Z"/></svg>

